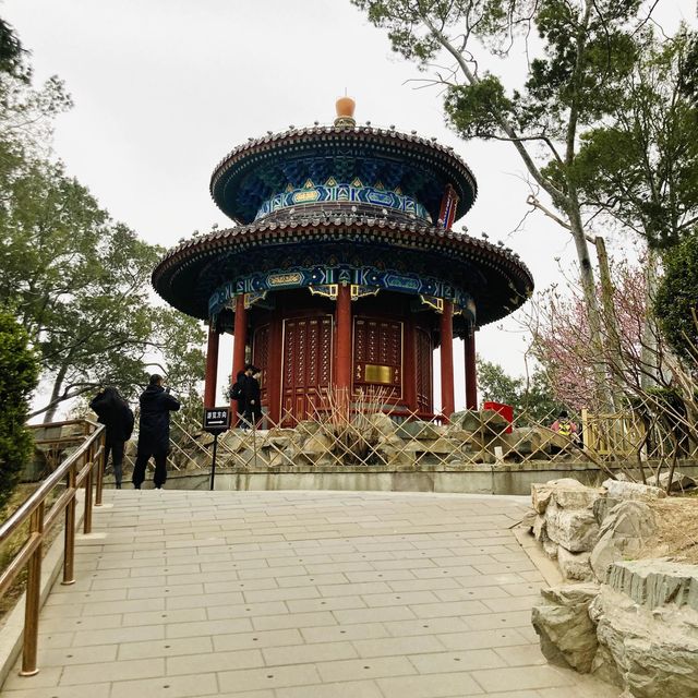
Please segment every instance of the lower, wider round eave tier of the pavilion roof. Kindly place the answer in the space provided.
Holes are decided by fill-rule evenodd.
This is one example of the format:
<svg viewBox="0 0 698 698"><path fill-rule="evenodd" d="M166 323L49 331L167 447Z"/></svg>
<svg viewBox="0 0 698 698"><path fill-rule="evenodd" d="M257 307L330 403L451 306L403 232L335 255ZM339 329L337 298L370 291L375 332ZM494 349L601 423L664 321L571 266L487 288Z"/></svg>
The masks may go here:
<svg viewBox="0 0 698 698"><path fill-rule="evenodd" d="M347 244L382 245L396 252L430 255L474 299L478 326L514 312L533 289L527 266L513 252L453 230L350 212L308 212L216 230L170 250L153 273L157 292L182 312L206 320L208 299L221 277L216 268L236 267L237 258L286 248Z"/></svg>

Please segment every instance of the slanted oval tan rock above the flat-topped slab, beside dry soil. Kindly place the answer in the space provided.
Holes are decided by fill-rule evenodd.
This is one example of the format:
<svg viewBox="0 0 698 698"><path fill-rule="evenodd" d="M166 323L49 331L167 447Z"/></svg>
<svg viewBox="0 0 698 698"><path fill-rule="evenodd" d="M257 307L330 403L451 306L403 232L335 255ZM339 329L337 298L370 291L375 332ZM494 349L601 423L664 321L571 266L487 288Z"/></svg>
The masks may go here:
<svg viewBox="0 0 698 698"><path fill-rule="evenodd" d="M597 579L606 580L612 563L636 554L657 531L654 513L643 502L633 500L615 505L599 529L591 551L591 568Z"/></svg>

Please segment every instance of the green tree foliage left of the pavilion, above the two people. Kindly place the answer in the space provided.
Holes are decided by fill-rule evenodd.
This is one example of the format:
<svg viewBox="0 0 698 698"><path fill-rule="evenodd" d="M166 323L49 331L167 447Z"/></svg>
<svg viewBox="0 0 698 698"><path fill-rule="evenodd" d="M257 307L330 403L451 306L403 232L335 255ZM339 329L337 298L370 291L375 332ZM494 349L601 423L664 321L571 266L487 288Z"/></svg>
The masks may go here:
<svg viewBox="0 0 698 698"><path fill-rule="evenodd" d="M0 21L0 309L26 328L50 385L29 416L45 421L103 385L133 398L153 372L195 393L204 371L201 323L152 302L164 250L115 221L49 157L53 119L71 105L59 79L32 84L26 53Z"/></svg>

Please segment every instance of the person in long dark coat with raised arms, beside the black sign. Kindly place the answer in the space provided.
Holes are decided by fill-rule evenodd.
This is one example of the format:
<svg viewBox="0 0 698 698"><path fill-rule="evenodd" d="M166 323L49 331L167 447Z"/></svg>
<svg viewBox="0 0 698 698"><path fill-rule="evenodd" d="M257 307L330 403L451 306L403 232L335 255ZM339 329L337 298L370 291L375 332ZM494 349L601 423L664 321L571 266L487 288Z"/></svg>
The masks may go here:
<svg viewBox="0 0 698 698"><path fill-rule="evenodd" d="M163 376L151 376L148 387L141 394L139 421L139 449L133 468L133 486L141 489L145 480L145 467L151 456L155 458L153 482L160 490L167 480L167 454L170 449L170 412L180 408L179 400L163 387Z"/></svg>

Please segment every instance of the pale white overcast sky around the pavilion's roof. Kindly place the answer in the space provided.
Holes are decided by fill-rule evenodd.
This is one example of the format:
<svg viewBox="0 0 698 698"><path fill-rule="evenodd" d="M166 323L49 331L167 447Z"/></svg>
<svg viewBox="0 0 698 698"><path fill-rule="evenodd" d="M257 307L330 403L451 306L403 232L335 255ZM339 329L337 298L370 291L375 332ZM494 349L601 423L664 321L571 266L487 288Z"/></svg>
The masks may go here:
<svg viewBox="0 0 698 698"><path fill-rule="evenodd" d="M682 16L696 24L691 0L660 0L659 10L669 24ZM216 164L249 136L330 122L346 88L359 121L454 146L480 192L456 228L504 240L538 289L559 280L555 257L574 258L569 237L539 214L512 234L528 209L513 147L448 131L437 91L407 83L422 75L348 0L3 0L0 15L32 51L37 81L58 74L73 96L75 107L58 119L57 156L149 242L170 246L214 222L228 226L208 194ZM514 61L520 67L524 57ZM477 340L483 357L524 373L516 323L484 328ZM230 371L228 345L221 354L219 383ZM438 388L434 397L438 404Z"/></svg>

